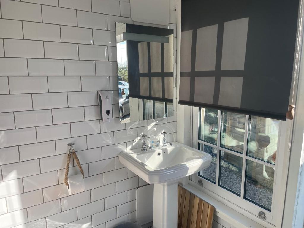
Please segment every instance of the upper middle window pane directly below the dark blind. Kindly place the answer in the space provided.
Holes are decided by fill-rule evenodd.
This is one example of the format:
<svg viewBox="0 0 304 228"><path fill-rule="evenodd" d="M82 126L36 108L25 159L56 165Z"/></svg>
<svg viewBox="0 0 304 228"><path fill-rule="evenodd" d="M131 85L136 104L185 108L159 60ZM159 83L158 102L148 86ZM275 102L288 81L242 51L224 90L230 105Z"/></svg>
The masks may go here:
<svg viewBox="0 0 304 228"><path fill-rule="evenodd" d="M243 153L245 122L246 115L223 112L221 147Z"/></svg>

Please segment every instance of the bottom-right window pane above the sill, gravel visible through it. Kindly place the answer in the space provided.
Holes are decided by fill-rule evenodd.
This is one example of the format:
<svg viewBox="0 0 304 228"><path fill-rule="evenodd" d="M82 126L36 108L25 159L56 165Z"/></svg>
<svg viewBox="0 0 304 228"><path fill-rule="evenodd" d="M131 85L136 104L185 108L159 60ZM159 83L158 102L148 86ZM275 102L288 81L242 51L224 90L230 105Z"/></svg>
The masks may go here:
<svg viewBox="0 0 304 228"><path fill-rule="evenodd" d="M275 169L254 161L246 161L246 189L244 198L271 210Z"/></svg>

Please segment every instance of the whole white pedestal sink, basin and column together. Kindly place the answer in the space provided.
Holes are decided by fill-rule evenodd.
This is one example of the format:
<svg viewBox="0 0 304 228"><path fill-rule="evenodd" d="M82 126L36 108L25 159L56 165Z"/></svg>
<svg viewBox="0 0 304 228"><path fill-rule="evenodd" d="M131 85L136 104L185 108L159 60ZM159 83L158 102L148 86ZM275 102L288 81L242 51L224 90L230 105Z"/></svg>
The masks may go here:
<svg viewBox="0 0 304 228"><path fill-rule="evenodd" d="M178 180L211 163L211 156L184 144L157 150L126 150L119 161L149 184L154 184L153 228L177 227Z"/></svg>

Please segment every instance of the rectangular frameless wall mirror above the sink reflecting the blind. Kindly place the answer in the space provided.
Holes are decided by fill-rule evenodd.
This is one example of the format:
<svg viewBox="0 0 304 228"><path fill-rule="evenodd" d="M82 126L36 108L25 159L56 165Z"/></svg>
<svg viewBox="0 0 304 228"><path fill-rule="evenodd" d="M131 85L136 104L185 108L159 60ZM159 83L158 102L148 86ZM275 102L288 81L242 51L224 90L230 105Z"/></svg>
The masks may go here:
<svg viewBox="0 0 304 228"><path fill-rule="evenodd" d="M121 123L173 116L173 29L116 22Z"/></svg>

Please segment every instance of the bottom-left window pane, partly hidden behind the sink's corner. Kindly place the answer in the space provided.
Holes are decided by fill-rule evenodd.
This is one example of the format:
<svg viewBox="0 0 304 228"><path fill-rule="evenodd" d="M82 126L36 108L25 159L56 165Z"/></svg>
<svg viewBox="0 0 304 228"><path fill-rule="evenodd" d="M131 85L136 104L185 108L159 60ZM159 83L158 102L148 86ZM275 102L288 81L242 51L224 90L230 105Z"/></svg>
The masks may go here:
<svg viewBox="0 0 304 228"><path fill-rule="evenodd" d="M211 164L208 168L204 169L201 172L201 175L212 181L214 184L216 183L216 157L217 157L217 149L214 147L210 147L207 145L201 144L201 150L207 154L211 155Z"/></svg>

